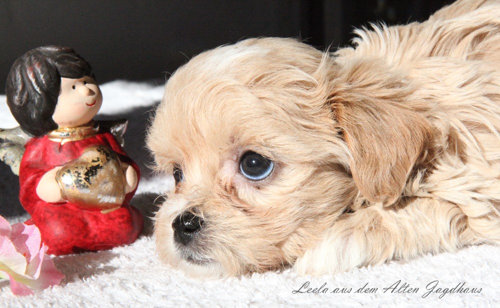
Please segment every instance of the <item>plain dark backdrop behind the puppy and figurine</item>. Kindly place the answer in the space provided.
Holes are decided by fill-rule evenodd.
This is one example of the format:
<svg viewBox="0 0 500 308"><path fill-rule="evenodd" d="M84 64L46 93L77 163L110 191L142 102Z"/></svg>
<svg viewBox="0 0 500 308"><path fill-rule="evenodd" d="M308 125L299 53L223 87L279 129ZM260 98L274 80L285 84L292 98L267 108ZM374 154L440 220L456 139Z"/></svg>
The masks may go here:
<svg viewBox="0 0 500 308"><path fill-rule="evenodd" d="M370 21L421 21L451 0L0 0L0 93L14 60L29 49L73 47L99 83L164 82L193 55L254 36L299 37L320 49L349 43ZM144 130L150 108L128 118L125 150L149 174ZM102 116L101 116L102 117ZM105 117L105 116L104 116ZM1 123L0 123L1 127ZM135 133L130 133L134 131ZM23 213L18 177L0 162L0 215Z"/></svg>

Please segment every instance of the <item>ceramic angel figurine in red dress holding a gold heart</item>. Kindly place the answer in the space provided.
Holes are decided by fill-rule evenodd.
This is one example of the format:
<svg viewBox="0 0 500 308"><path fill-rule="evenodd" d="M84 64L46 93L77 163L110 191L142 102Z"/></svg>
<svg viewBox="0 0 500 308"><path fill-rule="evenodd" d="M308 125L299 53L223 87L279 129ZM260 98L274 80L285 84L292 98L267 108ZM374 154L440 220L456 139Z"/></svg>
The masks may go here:
<svg viewBox="0 0 500 308"><path fill-rule="evenodd" d="M12 65L6 95L20 129L0 131L0 158L18 170L25 223L48 253L133 242L143 227L129 205L139 169L116 138L126 123L92 120L102 94L90 65L68 47L32 49Z"/></svg>

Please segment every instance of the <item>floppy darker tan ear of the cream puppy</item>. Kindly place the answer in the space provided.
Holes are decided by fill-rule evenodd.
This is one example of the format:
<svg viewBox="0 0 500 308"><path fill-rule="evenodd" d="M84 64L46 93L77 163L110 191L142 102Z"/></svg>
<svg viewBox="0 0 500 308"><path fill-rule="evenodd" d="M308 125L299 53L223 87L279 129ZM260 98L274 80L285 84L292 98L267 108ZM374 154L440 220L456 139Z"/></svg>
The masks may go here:
<svg viewBox="0 0 500 308"><path fill-rule="evenodd" d="M375 69L361 71L370 72L370 68ZM356 71L350 74L351 80L333 91L330 106L352 155L356 186L368 201L390 205L425 155L432 129L415 106L405 101L411 89L376 70L364 78L363 73L359 78Z"/></svg>

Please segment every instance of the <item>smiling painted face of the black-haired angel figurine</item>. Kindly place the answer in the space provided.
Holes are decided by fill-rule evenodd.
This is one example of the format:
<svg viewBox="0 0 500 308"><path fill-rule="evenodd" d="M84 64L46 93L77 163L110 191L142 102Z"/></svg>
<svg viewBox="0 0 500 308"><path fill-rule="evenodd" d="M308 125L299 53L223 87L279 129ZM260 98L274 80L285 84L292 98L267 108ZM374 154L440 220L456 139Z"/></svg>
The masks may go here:
<svg viewBox="0 0 500 308"><path fill-rule="evenodd" d="M92 77L61 78L59 97L52 119L59 128L75 127L90 121L102 104L102 94Z"/></svg>

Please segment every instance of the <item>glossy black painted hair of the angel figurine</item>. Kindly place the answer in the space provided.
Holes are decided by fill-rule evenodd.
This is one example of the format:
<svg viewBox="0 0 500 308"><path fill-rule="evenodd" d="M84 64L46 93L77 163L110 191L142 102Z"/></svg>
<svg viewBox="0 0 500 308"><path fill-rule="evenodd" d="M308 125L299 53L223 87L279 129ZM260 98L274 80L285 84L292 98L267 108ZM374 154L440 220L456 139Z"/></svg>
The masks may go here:
<svg viewBox="0 0 500 308"><path fill-rule="evenodd" d="M73 49L43 46L29 50L15 60L7 76L5 91L10 112L21 128L41 136L56 129L53 121L60 79L94 77L87 61Z"/></svg>

